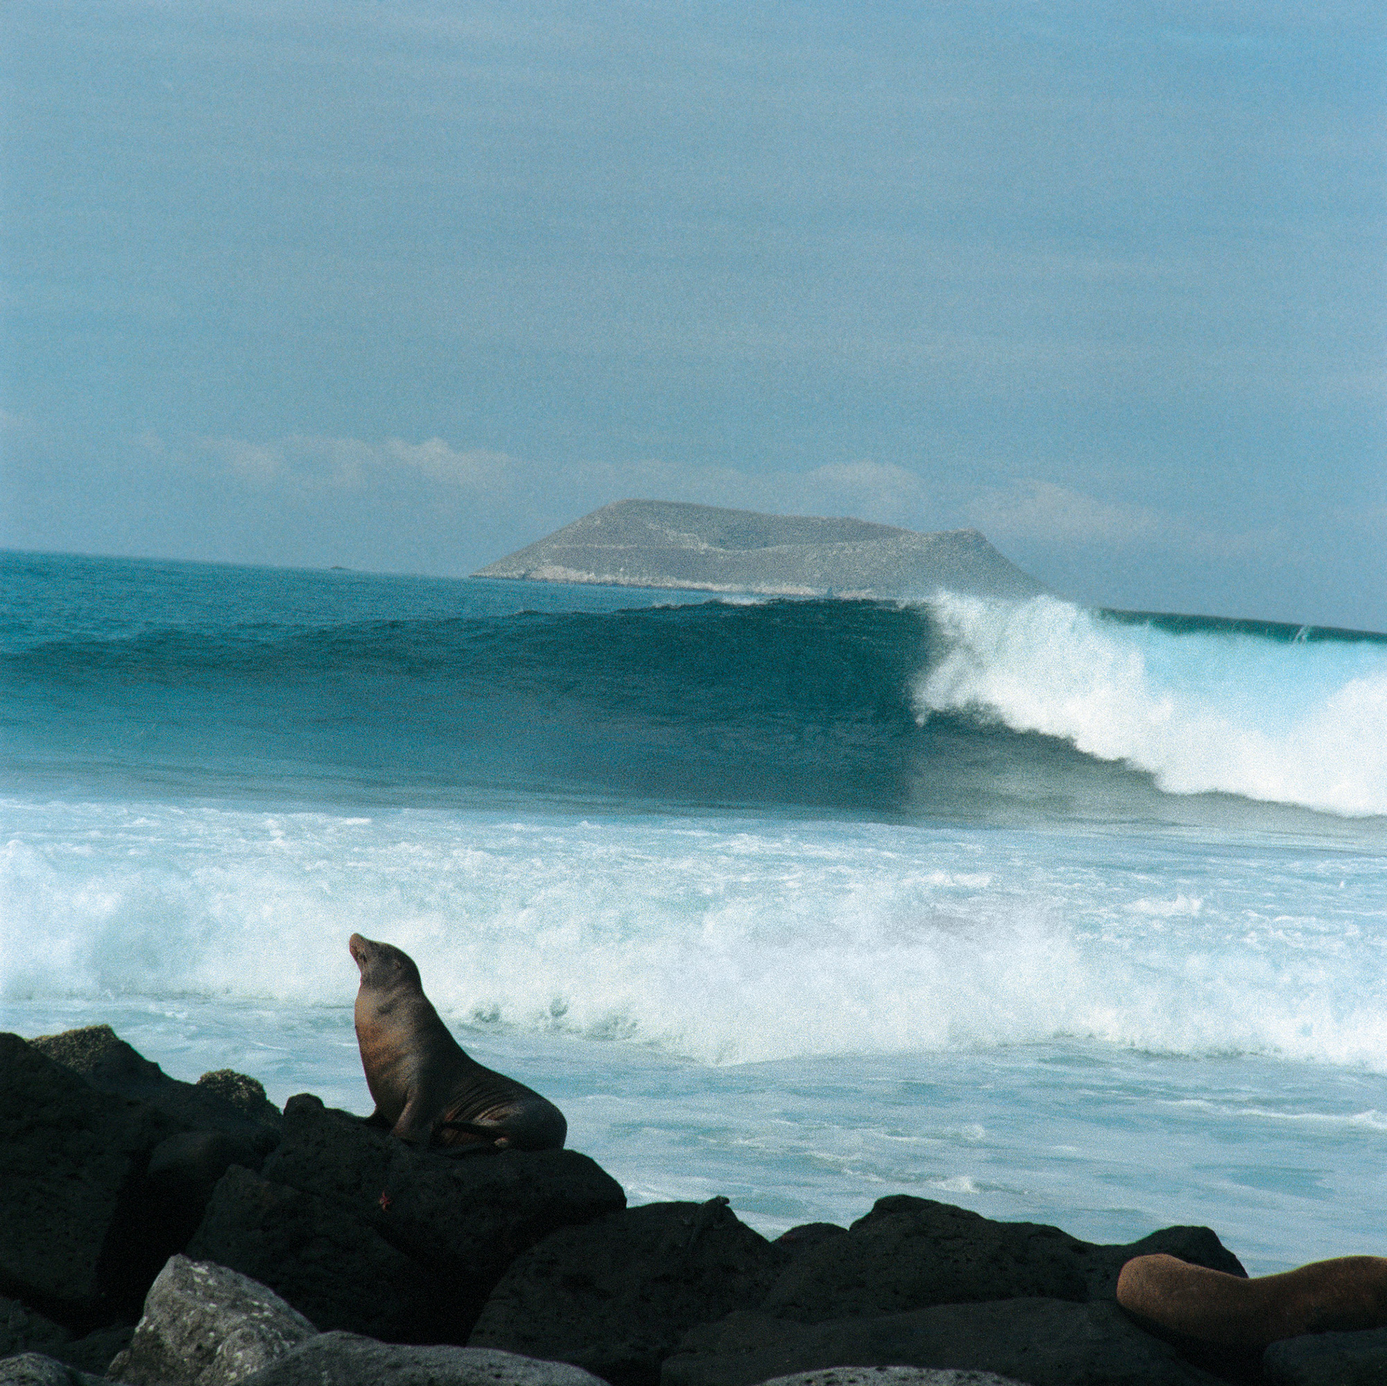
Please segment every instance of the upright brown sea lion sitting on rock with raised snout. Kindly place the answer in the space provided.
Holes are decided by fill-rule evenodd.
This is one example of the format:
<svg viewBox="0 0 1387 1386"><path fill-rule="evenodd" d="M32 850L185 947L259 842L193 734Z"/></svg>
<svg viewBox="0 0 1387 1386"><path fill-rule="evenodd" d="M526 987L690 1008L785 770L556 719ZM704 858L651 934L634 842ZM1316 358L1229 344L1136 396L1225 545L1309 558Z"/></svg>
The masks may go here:
<svg viewBox="0 0 1387 1386"><path fill-rule="evenodd" d="M563 1113L463 1052L424 995L408 954L361 934L352 934L347 947L361 969L356 1041L376 1099L373 1123L415 1145L563 1148L569 1132Z"/></svg>

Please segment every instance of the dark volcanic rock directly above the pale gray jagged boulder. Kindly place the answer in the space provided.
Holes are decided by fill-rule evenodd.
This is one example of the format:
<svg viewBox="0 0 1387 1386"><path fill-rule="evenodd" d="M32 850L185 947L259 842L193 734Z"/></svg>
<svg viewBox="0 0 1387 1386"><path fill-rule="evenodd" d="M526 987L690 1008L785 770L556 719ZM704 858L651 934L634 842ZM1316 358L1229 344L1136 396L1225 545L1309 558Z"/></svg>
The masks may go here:
<svg viewBox="0 0 1387 1386"><path fill-rule="evenodd" d="M442 1310L431 1277L348 1210L234 1164L187 1254L268 1285L320 1329L409 1342Z"/></svg>

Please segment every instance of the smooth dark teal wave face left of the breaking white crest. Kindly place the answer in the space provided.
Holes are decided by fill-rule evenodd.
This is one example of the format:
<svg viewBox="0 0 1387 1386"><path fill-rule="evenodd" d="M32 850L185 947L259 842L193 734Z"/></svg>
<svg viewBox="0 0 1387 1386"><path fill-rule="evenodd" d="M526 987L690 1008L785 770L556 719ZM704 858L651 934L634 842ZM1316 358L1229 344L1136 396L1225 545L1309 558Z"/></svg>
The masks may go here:
<svg viewBox="0 0 1387 1386"><path fill-rule="evenodd" d="M908 611L709 603L49 642L6 675L21 760L74 773L889 808L925 639Z"/></svg>

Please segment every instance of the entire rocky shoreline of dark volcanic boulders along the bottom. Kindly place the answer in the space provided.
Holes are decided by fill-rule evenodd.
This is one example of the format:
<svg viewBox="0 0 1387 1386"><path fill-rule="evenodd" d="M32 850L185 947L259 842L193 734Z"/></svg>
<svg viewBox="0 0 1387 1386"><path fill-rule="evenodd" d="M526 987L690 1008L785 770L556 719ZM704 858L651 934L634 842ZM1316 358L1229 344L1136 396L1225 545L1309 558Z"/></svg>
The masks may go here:
<svg viewBox="0 0 1387 1386"><path fill-rule="evenodd" d="M576 1150L180 1082L105 1026L0 1035L0 1386L1387 1382L1387 1329L1262 1353L1118 1307L1135 1256L1244 1274L1208 1228L1103 1246L893 1196L771 1242L725 1199L628 1209Z"/></svg>

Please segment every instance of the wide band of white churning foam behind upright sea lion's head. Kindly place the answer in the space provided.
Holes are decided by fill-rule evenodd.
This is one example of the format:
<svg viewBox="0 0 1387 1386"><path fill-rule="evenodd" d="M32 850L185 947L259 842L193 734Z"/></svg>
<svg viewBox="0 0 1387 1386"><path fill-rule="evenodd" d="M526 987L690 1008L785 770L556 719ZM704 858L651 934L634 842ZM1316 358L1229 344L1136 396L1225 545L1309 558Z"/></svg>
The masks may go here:
<svg viewBox="0 0 1387 1386"><path fill-rule="evenodd" d="M1114 861L1110 840L872 823L0 815L7 999L343 1005L355 929L413 954L456 1020L709 1062L1080 1037L1387 1069L1368 852L1326 875L1290 848L1125 837Z"/></svg>

